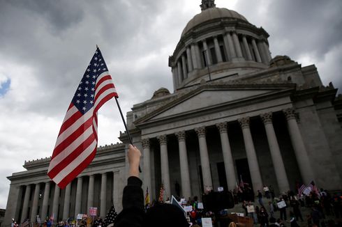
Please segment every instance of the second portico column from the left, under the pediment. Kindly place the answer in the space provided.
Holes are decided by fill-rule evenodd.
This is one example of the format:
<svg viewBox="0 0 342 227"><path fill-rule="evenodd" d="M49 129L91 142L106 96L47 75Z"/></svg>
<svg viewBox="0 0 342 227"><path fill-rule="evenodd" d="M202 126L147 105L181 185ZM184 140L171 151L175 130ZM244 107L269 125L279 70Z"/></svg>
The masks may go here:
<svg viewBox="0 0 342 227"><path fill-rule="evenodd" d="M166 135L157 137L161 145L161 181L165 188L165 197L171 196L169 158L168 158L168 141ZM171 198L170 198L171 199Z"/></svg>

